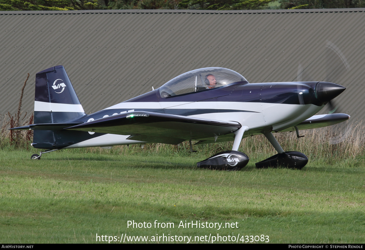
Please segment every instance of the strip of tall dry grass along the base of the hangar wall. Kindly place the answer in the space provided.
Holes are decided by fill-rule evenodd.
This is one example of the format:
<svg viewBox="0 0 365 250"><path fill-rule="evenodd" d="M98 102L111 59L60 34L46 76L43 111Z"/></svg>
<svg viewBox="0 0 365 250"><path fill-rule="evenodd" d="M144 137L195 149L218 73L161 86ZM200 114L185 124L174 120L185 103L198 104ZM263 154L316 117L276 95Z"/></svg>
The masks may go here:
<svg viewBox="0 0 365 250"><path fill-rule="evenodd" d="M28 118L27 121L31 121ZM8 122L3 121L0 129L1 149L3 148L19 148L32 149L30 146L31 137L29 130L19 131L17 144L11 139L11 133L7 130ZM284 151L299 151L308 156L310 160L327 160L335 161L339 159L362 159L365 153L364 132L365 128L361 123L356 125L344 126L329 126L319 129L301 130L300 134L304 137L297 138L295 132L274 133L274 136L280 143ZM179 146L168 145L161 143L146 144L141 148L140 144L135 145L120 145L114 146L112 149L94 148L79 148L70 149L84 153L96 154L112 154L112 155L149 155L160 154L163 156L191 156L192 154L199 155L202 158L208 158L218 152L231 149L233 142L214 143L206 145L194 145L193 149L196 153L190 152L189 142L185 141ZM33 149L38 150L38 149ZM277 154L273 146L265 138L264 135L256 135L246 137L242 140L239 151L244 152L250 158L265 159L269 156ZM330 162L329 162L330 163Z"/></svg>

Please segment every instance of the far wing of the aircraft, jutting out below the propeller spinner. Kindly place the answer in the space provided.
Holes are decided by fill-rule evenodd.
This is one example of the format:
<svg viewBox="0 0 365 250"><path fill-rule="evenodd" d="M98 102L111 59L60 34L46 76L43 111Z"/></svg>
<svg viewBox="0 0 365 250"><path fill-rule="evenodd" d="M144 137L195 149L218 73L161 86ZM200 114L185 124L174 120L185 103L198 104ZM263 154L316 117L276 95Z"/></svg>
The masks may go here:
<svg viewBox="0 0 365 250"><path fill-rule="evenodd" d="M300 122L296 126L280 130L280 132L295 131L295 127L297 127L299 130L322 128L349 120L349 118L350 115L342 113L313 115L307 120Z"/></svg>

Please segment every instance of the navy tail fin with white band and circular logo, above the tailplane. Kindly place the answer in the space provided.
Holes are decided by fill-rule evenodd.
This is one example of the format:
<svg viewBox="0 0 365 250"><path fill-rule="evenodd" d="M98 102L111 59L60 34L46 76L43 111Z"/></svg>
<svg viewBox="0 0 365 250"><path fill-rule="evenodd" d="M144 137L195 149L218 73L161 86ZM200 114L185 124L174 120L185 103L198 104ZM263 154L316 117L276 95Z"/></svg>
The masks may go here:
<svg viewBox="0 0 365 250"><path fill-rule="evenodd" d="M35 124L72 122L85 115L62 65L35 75Z"/></svg>

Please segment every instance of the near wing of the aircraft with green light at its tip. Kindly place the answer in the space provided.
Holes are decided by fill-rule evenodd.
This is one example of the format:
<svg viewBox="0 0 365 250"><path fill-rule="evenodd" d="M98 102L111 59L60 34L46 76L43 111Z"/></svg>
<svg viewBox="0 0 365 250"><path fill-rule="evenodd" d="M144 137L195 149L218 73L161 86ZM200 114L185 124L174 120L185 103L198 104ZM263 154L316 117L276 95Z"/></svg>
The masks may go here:
<svg viewBox="0 0 365 250"><path fill-rule="evenodd" d="M130 135L127 139L178 144L235 132L239 122L193 118L181 115L134 111L100 118L65 128L98 133Z"/></svg>

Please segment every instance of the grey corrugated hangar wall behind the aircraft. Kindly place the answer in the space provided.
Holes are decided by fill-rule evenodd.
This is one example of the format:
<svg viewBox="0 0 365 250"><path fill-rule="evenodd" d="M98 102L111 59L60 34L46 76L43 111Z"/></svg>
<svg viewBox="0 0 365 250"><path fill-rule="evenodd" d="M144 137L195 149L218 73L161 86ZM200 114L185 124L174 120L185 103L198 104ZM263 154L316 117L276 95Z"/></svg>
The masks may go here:
<svg viewBox="0 0 365 250"><path fill-rule="evenodd" d="M218 66L251 83L339 83L337 112L362 120L363 23L365 8L0 12L0 113L15 113L27 73L23 112L32 112L35 73L55 65L86 113Z"/></svg>

